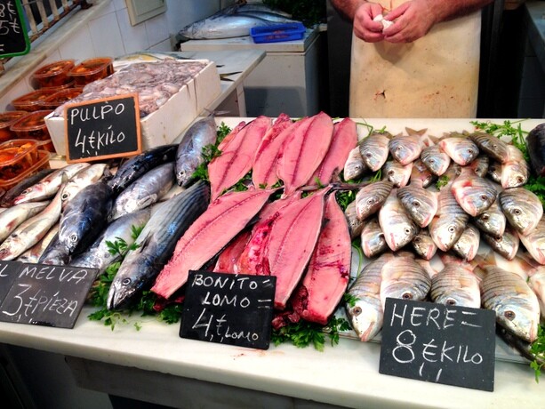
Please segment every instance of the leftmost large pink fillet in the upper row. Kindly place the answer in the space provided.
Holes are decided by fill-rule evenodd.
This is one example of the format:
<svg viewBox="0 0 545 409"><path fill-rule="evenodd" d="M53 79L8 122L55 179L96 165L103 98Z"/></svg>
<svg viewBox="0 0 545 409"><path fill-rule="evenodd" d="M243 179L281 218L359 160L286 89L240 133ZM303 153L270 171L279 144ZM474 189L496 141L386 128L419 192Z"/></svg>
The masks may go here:
<svg viewBox="0 0 545 409"><path fill-rule="evenodd" d="M212 201L252 169L255 151L270 126L268 116L258 116L236 133L221 155L208 164Z"/></svg>

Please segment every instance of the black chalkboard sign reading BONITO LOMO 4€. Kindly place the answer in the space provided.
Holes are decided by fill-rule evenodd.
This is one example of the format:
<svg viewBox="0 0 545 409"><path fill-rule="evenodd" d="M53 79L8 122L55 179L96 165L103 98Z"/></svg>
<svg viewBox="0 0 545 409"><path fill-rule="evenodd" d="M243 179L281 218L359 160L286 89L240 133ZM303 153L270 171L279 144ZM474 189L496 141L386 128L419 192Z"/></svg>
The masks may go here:
<svg viewBox="0 0 545 409"><path fill-rule="evenodd" d="M180 337L268 349L276 280L189 271Z"/></svg>

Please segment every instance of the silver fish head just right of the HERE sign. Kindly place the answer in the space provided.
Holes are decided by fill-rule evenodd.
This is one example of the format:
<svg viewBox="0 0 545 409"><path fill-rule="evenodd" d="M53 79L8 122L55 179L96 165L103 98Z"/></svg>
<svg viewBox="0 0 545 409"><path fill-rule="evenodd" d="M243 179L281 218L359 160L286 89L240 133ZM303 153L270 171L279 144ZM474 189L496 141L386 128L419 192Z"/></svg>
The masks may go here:
<svg viewBox="0 0 545 409"><path fill-rule="evenodd" d="M495 312L497 321L509 332L528 342L536 340L540 323L537 297L506 297Z"/></svg>

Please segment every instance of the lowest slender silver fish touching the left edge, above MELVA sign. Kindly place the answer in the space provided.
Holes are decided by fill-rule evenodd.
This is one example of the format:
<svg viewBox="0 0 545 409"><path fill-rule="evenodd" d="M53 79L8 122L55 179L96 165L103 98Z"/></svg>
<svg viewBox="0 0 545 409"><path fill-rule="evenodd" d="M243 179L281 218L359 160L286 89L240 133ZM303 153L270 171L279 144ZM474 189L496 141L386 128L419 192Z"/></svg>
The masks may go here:
<svg viewBox="0 0 545 409"><path fill-rule="evenodd" d="M66 182L66 176L63 176ZM62 188L63 185L60 186ZM23 221L19 227L12 231L2 245L0 245L0 260L13 260L24 253L33 245L36 245L42 237L59 221L61 210L61 191L57 189L57 195L44 210L35 216Z"/></svg>

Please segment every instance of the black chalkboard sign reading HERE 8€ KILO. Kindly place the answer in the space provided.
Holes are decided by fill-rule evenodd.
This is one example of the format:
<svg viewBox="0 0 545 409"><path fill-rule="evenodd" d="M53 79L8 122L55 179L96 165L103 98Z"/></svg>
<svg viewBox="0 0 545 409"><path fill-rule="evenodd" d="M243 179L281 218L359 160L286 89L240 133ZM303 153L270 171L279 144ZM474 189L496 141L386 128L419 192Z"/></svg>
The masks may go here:
<svg viewBox="0 0 545 409"><path fill-rule="evenodd" d="M495 313L387 299L380 373L493 391Z"/></svg>

